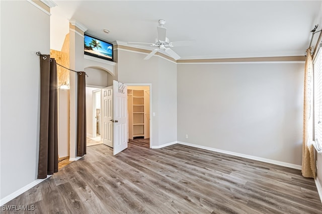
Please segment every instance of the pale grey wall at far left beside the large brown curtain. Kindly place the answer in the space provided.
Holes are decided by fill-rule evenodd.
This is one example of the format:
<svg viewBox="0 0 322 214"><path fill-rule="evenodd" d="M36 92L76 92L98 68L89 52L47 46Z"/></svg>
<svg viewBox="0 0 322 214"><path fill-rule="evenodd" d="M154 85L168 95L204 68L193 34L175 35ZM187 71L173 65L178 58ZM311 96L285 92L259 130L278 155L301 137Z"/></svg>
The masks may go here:
<svg viewBox="0 0 322 214"><path fill-rule="evenodd" d="M36 180L40 68L49 54L49 16L27 1L1 1L0 197ZM8 42L11 41L11 42Z"/></svg>

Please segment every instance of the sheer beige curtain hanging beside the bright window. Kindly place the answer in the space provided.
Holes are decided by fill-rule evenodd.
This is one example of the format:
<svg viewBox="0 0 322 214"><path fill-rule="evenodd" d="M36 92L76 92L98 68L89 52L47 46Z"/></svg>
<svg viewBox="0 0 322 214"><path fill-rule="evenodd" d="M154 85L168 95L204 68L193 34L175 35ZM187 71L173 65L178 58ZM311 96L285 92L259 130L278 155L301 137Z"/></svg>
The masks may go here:
<svg viewBox="0 0 322 214"><path fill-rule="evenodd" d="M313 63L311 49L306 50L304 68L302 175L315 178L313 138Z"/></svg>

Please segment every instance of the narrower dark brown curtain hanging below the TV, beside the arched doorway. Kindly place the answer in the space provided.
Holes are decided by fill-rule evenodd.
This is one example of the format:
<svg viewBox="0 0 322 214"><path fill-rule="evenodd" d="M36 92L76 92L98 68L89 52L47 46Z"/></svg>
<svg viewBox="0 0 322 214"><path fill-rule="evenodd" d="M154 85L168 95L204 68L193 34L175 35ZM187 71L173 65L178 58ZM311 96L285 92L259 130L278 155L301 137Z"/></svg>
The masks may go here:
<svg viewBox="0 0 322 214"><path fill-rule="evenodd" d="M82 157L86 154L86 73L77 74L77 156Z"/></svg>

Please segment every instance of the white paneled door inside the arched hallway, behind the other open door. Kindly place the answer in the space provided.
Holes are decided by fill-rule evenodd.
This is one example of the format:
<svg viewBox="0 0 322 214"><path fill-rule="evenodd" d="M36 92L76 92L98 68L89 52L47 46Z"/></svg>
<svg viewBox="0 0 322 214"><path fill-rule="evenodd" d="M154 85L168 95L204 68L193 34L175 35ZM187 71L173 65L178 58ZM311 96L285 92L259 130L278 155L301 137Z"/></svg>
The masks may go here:
<svg viewBox="0 0 322 214"><path fill-rule="evenodd" d="M102 89L102 139L113 148L113 86Z"/></svg>

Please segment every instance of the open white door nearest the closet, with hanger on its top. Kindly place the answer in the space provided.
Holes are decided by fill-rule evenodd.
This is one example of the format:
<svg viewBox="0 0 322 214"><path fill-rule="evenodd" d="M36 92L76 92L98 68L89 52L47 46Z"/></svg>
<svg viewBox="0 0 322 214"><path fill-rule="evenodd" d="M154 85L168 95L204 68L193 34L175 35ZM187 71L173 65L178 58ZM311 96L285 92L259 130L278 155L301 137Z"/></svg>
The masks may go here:
<svg viewBox="0 0 322 214"><path fill-rule="evenodd" d="M113 80L113 154L127 148L127 86Z"/></svg>

